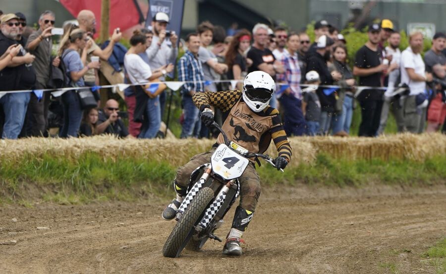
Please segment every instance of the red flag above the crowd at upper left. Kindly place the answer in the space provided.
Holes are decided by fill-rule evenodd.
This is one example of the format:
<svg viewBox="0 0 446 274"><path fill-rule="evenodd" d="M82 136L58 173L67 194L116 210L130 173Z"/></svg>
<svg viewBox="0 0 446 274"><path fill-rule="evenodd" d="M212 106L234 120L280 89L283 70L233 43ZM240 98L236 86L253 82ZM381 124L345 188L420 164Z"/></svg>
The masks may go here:
<svg viewBox="0 0 446 274"><path fill-rule="evenodd" d="M89 9L96 17L96 33L101 28L101 0L59 0L59 2L75 18L79 11ZM110 0L110 22L109 33L115 28L125 31L137 24L144 22L144 17L139 6L134 0Z"/></svg>

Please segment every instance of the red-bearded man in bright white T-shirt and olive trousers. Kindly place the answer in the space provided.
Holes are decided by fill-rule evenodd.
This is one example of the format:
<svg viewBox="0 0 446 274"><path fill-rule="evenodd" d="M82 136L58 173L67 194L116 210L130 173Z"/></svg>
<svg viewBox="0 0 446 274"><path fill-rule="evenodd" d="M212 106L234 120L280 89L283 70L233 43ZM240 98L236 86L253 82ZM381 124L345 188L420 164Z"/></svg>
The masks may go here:
<svg viewBox="0 0 446 274"><path fill-rule="evenodd" d="M432 74L426 72L421 51L423 34L414 32L409 36L409 47L401 53L401 83L409 86L409 95L403 103L404 127L412 133L421 133L426 122L428 98L426 82L432 81Z"/></svg>

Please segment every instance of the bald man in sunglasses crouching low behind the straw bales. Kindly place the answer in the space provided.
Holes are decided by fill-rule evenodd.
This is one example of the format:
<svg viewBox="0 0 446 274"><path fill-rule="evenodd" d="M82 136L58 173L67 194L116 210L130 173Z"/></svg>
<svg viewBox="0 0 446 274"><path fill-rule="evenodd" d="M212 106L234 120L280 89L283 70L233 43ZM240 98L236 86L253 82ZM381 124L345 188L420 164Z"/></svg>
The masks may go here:
<svg viewBox="0 0 446 274"><path fill-rule="evenodd" d="M118 111L119 103L114 99L108 100L104 110L99 110L95 134L113 134L119 138L129 136L127 127L119 118Z"/></svg>

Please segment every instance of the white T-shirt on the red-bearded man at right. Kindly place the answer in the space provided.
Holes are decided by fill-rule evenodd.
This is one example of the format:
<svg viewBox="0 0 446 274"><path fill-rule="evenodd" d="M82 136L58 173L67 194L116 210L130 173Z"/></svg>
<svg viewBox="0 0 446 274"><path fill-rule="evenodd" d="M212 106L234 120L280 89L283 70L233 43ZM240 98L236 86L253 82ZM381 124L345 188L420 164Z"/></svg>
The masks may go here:
<svg viewBox="0 0 446 274"><path fill-rule="evenodd" d="M425 81L413 81L410 80L409 74L407 73L406 68L413 68L416 74L424 75L425 74L425 66L423 62L423 58L420 54L414 54L410 47L407 47L401 53L401 83L406 83L409 86L410 94L409 95L417 95L426 89Z"/></svg>

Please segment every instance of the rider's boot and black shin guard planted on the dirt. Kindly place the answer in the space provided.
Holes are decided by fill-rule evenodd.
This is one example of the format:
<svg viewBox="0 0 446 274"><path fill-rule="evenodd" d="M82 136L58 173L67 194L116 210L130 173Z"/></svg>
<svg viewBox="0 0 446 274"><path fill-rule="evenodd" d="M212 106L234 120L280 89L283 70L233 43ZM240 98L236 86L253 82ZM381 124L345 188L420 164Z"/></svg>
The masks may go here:
<svg viewBox="0 0 446 274"><path fill-rule="evenodd" d="M234 220L232 221L232 228L226 236L226 243L223 247L223 255L242 255L240 243L244 243L242 239L243 231L245 231L248 227L248 223L251 221L253 214L253 212L244 210L240 206L237 207L235 210Z"/></svg>

